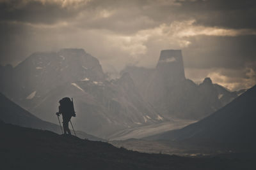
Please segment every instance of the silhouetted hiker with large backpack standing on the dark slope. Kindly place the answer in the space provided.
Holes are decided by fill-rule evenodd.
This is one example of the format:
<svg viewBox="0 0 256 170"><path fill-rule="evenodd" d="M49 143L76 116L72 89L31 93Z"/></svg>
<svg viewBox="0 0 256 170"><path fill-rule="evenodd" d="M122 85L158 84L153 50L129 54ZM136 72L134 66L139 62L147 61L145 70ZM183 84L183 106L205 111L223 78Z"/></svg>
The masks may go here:
<svg viewBox="0 0 256 170"><path fill-rule="evenodd" d="M59 112L56 115L60 117L60 114L62 114L64 134L67 134L67 132L71 134L68 128L68 122L70 122L71 117L76 117L73 101L70 101L69 97L64 97L59 103Z"/></svg>

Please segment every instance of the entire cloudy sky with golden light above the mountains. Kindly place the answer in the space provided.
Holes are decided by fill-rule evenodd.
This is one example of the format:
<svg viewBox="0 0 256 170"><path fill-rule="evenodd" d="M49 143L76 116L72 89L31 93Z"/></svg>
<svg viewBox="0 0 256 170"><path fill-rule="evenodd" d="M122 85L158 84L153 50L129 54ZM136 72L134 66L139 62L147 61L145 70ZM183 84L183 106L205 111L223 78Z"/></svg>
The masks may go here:
<svg viewBox="0 0 256 170"><path fill-rule="evenodd" d="M84 48L104 71L155 67L181 49L186 77L237 90L256 83L255 0L0 0L0 63Z"/></svg>

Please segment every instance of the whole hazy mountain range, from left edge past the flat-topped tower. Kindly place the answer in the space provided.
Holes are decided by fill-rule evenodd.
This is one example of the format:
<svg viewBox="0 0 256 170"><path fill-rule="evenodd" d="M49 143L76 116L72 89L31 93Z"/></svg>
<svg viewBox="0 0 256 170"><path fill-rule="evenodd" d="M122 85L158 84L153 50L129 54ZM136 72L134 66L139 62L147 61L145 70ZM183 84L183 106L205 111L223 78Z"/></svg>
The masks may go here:
<svg viewBox="0 0 256 170"><path fill-rule="evenodd" d="M47 122L58 124L58 101L72 97L76 129L105 139L137 127L200 120L239 96L210 78L200 85L188 80L181 50L162 50L156 68L127 67L116 80L108 80L99 60L83 49L36 52L15 67L1 66L0 79L6 97Z"/></svg>

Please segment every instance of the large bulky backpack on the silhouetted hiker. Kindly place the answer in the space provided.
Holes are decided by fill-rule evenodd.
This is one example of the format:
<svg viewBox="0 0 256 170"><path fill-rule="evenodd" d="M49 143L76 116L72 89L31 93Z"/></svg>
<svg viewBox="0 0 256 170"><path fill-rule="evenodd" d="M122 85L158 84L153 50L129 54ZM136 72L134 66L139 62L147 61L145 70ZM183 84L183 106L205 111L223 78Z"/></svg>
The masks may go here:
<svg viewBox="0 0 256 170"><path fill-rule="evenodd" d="M64 114L67 114L70 117L76 117L76 113L74 110L74 103L70 100L69 97L64 97L59 101L60 108Z"/></svg>

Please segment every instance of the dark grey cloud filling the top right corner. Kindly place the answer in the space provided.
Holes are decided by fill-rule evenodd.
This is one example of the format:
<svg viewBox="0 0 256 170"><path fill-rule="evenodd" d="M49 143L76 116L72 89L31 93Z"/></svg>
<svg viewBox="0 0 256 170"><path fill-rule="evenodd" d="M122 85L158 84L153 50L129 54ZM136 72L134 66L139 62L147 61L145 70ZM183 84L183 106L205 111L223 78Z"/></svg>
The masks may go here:
<svg viewBox="0 0 256 170"><path fill-rule="evenodd" d="M256 28L255 0L180 1L182 10L196 18L197 24L228 27Z"/></svg>

